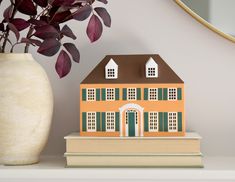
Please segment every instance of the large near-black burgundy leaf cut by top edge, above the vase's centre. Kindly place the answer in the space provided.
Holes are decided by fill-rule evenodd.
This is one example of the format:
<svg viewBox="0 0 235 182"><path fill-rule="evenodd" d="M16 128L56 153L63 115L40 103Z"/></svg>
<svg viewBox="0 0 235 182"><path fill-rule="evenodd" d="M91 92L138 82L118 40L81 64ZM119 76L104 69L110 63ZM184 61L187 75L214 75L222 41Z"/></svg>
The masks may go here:
<svg viewBox="0 0 235 182"><path fill-rule="evenodd" d="M17 10L26 15L36 15L37 9L32 0L15 0Z"/></svg>

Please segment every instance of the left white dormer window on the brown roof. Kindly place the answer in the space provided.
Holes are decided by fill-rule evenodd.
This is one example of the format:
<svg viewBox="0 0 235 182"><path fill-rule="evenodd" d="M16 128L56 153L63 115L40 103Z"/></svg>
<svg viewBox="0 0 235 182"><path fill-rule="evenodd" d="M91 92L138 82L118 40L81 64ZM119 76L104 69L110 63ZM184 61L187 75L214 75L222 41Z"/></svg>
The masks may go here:
<svg viewBox="0 0 235 182"><path fill-rule="evenodd" d="M117 79L118 78L118 65L113 59L110 59L105 66L105 79Z"/></svg>

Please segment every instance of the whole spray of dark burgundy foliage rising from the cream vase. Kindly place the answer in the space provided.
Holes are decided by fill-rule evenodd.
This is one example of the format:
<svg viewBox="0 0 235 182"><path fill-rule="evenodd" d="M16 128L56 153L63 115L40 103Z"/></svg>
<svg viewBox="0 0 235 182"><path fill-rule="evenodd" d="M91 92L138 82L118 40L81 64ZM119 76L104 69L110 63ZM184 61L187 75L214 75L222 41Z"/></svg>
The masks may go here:
<svg viewBox="0 0 235 182"><path fill-rule="evenodd" d="M72 19L88 19L86 33L91 42L101 37L103 24L111 26L111 18L106 9L94 7L97 1L108 3L107 0L9 0L10 5L2 12L3 19L0 21L0 52L5 52L9 46L13 51L15 45L23 43L25 52L32 45L38 47L37 52L45 56L59 53L55 68L60 78L66 76L71 70L71 60L76 63L80 61L76 44L63 43L64 38L77 39L73 32L76 29L72 30L66 23ZM17 16L20 13L24 16L19 18ZM22 30L27 30L23 34L26 36L20 37ZM12 34L16 37L15 43L9 40Z"/></svg>

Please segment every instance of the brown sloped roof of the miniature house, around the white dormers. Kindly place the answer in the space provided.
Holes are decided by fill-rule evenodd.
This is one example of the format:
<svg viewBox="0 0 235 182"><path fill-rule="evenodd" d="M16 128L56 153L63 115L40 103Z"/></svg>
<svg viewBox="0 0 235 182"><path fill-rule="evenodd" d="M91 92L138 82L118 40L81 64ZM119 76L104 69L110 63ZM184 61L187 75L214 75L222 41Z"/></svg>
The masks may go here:
<svg viewBox="0 0 235 182"><path fill-rule="evenodd" d="M145 63L152 57L158 64L158 78L146 78ZM105 79L105 66L110 59L118 65L118 78ZM82 81L82 84L184 83L158 54L107 55Z"/></svg>

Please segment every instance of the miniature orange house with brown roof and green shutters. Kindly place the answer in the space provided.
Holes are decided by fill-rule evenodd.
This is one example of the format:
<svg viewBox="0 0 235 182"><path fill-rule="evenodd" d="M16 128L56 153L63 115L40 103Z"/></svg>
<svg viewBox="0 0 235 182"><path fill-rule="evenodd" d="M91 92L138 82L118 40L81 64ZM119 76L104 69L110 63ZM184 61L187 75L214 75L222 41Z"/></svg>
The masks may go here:
<svg viewBox="0 0 235 182"><path fill-rule="evenodd" d="M81 136L184 136L184 82L159 55L106 56L80 85Z"/></svg>

